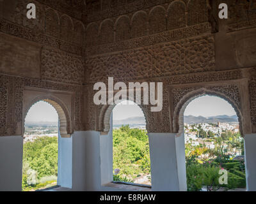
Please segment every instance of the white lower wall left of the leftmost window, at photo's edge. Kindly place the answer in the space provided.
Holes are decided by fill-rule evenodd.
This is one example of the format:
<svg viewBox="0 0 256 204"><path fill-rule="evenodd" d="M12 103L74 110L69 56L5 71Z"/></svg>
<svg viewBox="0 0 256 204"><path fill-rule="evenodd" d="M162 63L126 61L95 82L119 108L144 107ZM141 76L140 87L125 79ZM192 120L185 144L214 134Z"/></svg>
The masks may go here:
<svg viewBox="0 0 256 204"><path fill-rule="evenodd" d="M22 136L0 137L0 191L21 191L22 148Z"/></svg>

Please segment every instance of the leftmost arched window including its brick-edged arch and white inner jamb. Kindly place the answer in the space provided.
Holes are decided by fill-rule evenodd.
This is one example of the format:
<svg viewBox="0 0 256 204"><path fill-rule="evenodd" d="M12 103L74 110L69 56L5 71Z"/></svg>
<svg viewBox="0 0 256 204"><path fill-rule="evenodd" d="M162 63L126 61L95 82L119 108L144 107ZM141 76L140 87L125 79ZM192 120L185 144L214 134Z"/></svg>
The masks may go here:
<svg viewBox="0 0 256 204"><path fill-rule="evenodd" d="M22 191L71 188L72 138L66 106L58 98L42 96L24 109Z"/></svg>

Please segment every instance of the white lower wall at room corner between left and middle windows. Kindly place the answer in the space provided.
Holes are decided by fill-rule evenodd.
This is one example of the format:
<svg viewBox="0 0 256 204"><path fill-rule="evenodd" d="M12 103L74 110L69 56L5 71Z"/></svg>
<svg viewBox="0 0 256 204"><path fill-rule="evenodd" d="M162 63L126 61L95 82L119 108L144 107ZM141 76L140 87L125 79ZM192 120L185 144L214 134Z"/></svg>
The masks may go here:
<svg viewBox="0 0 256 204"><path fill-rule="evenodd" d="M97 191L100 186L100 133L75 132L73 138L73 191Z"/></svg>

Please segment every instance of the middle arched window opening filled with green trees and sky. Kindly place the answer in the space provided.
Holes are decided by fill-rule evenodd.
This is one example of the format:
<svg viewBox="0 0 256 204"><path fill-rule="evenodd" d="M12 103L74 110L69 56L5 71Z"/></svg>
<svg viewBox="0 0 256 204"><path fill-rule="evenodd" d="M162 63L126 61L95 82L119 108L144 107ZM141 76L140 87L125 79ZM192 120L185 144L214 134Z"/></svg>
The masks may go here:
<svg viewBox="0 0 256 204"><path fill-rule="evenodd" d="M113 109L113 180L151 185L145 116L132 101Z"/></svg>

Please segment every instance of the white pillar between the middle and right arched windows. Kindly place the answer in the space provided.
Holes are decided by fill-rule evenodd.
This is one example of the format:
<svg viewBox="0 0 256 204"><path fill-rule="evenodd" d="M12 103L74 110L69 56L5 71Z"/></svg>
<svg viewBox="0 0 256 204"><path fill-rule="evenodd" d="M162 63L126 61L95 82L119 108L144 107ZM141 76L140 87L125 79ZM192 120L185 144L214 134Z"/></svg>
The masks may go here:
<svg viewBox="0 0 256 204"><path fill-rule="evenodd" d="M148 133L152 191L186 191L184 133Z"/></svg>

